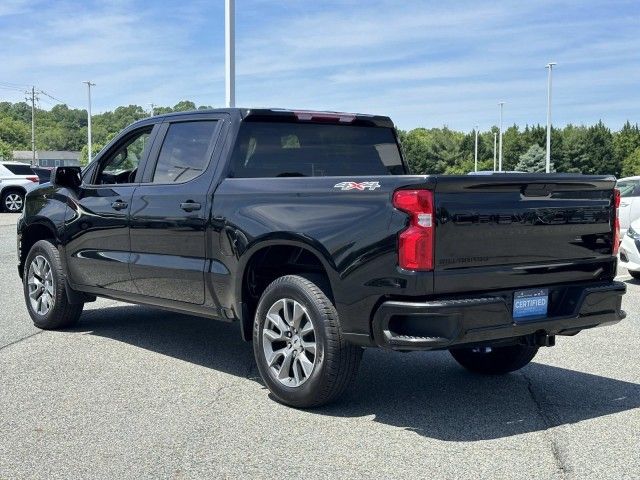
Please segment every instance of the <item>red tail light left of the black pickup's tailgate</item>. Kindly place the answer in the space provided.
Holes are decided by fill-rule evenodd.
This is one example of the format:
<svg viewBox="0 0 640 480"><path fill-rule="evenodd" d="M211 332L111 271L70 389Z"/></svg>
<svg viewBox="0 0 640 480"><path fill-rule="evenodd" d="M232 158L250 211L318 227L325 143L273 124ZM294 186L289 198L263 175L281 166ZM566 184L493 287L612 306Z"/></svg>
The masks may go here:
<svg viewBox="0 0 640 480"><path fill-rule="evenodd" d="M398 236L398 264L407 270L433 270L433 192L398 190L393 206L411 215Z"/></svg>

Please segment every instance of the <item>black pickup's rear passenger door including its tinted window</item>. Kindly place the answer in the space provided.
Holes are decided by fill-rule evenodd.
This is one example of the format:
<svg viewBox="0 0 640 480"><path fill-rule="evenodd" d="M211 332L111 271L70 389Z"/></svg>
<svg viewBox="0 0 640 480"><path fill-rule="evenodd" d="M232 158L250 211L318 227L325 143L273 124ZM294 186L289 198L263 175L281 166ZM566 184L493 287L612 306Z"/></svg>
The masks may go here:
<svg viewBox="0 0 640 480"><path fill-rule="evenodd" d="M131 273L141 294L203 304L210 188L223 115L163 123L131 209Z"/></svg>

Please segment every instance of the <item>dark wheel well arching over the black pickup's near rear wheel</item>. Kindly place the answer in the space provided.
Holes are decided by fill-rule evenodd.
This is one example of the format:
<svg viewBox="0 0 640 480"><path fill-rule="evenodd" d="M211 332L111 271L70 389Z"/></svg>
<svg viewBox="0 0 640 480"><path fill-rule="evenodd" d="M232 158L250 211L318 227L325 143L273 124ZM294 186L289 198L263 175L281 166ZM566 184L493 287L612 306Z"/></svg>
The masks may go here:
<svg viewBox="0 0 640 480"><path fill-rule="evenodd" d="M262 292L284 275L313 275L318 286L333 301L329 277L320 259L304 247L272 245L255 252L242 279L242 336L251 341L252 323Z"/></svg>

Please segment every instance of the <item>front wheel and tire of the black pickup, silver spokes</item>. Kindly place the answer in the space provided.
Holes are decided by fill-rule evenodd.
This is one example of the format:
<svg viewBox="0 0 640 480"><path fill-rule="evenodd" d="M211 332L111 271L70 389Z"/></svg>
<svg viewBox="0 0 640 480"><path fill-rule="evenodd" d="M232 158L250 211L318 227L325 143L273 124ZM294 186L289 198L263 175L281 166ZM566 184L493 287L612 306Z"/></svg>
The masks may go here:
<svg viewBox="0 0 640 480"><path fill-rule="evenodd" d="M80 319L84 303L69 303L60 253L51 242L40 240L31 247L24 264L22 285L27 310L36 327L63 329Z"/></svg>

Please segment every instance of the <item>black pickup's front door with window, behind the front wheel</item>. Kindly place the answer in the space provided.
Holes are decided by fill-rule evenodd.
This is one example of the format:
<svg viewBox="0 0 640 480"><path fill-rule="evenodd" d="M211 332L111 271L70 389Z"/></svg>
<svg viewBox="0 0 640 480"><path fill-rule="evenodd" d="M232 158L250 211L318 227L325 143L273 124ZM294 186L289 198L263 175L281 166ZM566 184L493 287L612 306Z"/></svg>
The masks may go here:
<svg viewBox="0 0 640 480"><path fill-rule="evenodd" d="M150 125L134 130L116 142L96 160L70 202L65 233L72 283L137 293L129 271L129 212L152 129Z"/></svg>

